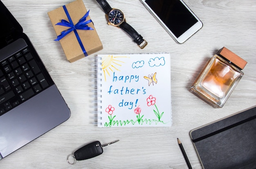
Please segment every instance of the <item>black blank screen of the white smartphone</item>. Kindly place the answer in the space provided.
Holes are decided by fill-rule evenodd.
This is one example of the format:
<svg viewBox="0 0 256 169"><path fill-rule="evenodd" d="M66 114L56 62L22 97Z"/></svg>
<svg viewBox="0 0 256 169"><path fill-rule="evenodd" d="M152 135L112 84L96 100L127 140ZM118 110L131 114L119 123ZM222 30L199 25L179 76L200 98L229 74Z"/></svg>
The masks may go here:
<svg viewBox="0 0 256 169"><path fill-rule="evenodd" d="M177 38L198 22L180 0L145 0L145 2Z"/></svg>

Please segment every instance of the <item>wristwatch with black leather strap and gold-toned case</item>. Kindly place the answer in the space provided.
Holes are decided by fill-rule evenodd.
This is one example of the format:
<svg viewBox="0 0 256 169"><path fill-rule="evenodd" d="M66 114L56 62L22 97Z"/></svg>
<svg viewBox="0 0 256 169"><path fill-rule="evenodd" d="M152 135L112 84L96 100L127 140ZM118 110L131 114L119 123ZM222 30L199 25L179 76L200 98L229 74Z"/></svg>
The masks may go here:
<svg viewBox="0 0 256 169"><path fill-rule="evenodd" d="M143 37L126 22L124 13L122 11L111 8L106 0L97 0L97 2L101 5L103 11L106 13L106 18L109 25L124 29L124 31L126 31L126 33L132 37L133 41L137 43L140 49L146 47L148 42L144 40Z"/></svg>

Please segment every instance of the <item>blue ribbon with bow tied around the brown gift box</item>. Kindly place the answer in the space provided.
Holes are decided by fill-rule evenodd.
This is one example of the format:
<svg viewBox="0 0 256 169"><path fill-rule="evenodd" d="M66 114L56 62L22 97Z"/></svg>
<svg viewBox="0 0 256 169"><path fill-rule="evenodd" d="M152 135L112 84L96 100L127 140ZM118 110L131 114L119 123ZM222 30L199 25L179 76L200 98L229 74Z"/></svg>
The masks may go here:
<svg viewBox="0 0 256 169"><path fill-rule="evenodd" d="M80 37L79 37L79 35L78 35L76 29L80 29L80 30L94 30L94 29L92 29L91 27L88 27L88 25L87 25L88 23L92 22L92 20L86 21L86 17L89 16L89 11L90 11L90 10L89 10L87 13L85 13L85 15L83 16L83 18L81 18L81 19L79 20L79 22L77 22L77 24L74 25L73 22L72 22L72 19L71 19L71 17L70 17L70 14L68 13L67 8L66 8L65 5L63 6L63 9L64 9L64 11L65 11L65 13L66 13L66 15L67 15L67 18L68 18L68 20L69 20L70 22L68 22L68 21L66 21L66 20L61 20L61 22L58 22L58 23L55 24L55 25L61 25L61 26L70 27L70 28L67 29L67 30L65 30L65 31L62 31L61 34L57 36L57 39L55 39L55 41L61 40L61 39L62 39L64 36L66 36L68 33L74 31L74 33L75 33L75 35L76 35L76 39L77 39L77 41L79 42L80 47L81 47L81 49L82 49L82 51L83 51L83 54L84 54L85 56L88 56L87 52L85 51L85 48L83 47L83 43L82 43L82 41L81 41L81 39L80 39Z"/></svg>

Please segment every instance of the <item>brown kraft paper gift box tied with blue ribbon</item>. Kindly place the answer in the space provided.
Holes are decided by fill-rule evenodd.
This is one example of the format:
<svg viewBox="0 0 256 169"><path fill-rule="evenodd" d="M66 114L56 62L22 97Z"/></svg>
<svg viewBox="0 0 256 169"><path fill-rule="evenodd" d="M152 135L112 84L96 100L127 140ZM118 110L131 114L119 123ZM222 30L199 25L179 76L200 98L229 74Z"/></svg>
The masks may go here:
<svg viewBox="0 0 256 169"><path fill-rule="evenodd" d="M90 10L89 10L90 11ZM48 12L67 60L74 62L101 49L102 43L83 0Z"/></svg>

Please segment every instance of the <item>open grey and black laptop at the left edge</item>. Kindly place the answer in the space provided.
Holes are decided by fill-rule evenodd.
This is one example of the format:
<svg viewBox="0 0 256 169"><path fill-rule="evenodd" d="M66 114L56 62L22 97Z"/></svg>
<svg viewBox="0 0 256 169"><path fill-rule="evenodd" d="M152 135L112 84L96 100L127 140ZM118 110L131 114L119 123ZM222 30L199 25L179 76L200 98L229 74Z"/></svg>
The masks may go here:
<svg viewBox="0 0 256 169"><path fill-rule="evenodd" d="M0 1L0 160L70 117L18 21Z"/></svg>

